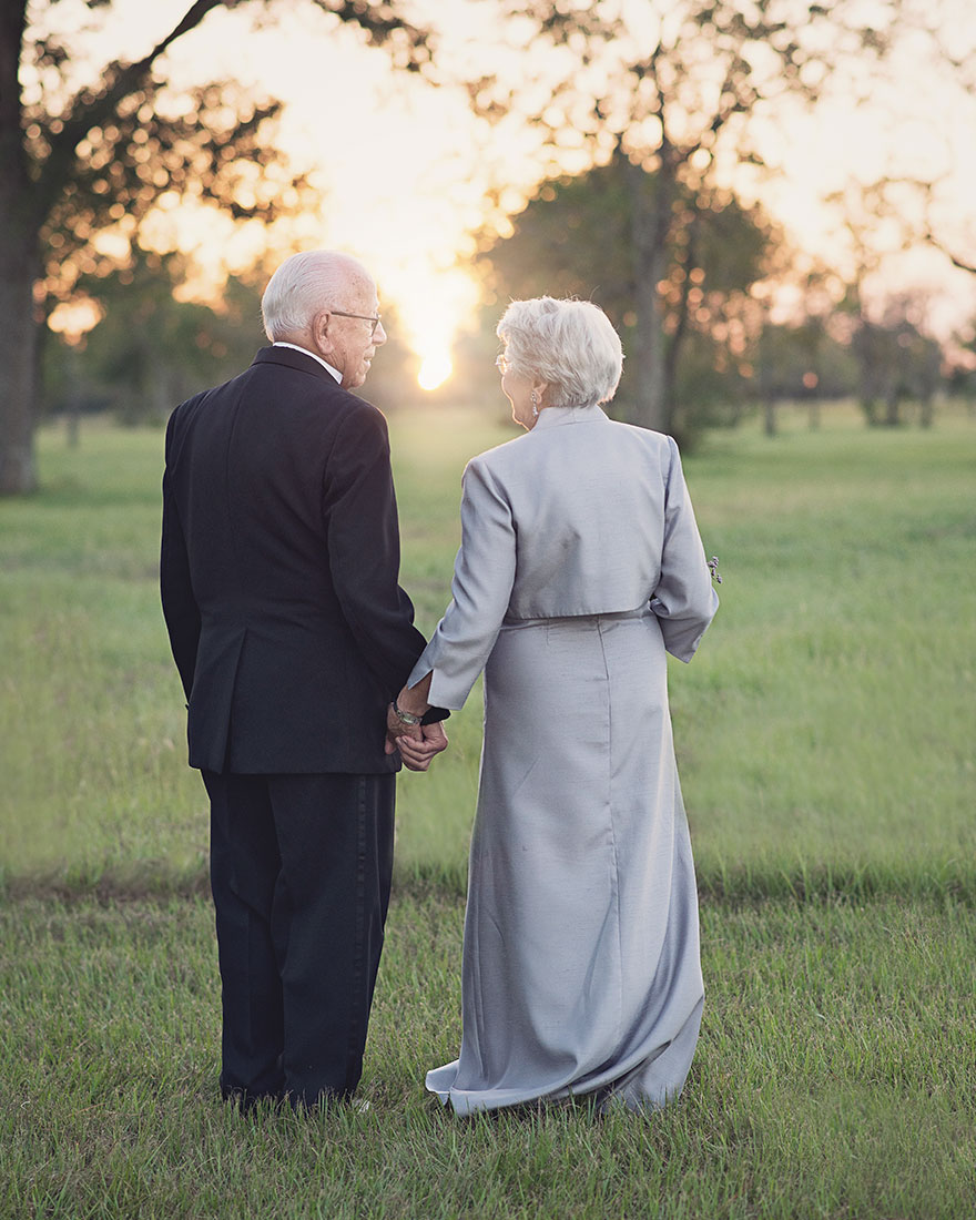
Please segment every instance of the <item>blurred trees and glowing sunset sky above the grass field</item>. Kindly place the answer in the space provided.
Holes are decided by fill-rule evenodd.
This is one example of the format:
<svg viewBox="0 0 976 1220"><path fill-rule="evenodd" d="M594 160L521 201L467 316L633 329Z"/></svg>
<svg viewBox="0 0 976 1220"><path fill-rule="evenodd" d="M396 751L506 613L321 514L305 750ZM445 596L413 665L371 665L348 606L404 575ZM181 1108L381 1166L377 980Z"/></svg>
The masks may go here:
<svg viewBox="0 0 976 1220"><path fill-rule="evenodd" d="M970 0L10 0L0 492L33 434L159 422L264 342L267 276L373 270L386 410L498 403L512 296L597 300L615 412L976 396Z"/></svg>

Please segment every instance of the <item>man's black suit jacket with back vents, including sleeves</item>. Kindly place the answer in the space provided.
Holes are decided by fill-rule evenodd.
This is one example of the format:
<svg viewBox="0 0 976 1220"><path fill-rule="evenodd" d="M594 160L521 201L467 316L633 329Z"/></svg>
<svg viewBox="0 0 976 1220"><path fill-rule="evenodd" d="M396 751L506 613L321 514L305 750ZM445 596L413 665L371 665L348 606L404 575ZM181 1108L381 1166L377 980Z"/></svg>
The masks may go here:
<svg viewBox="0 0 976 1220"><path fill-rule="evenodd" d="M398 583L382 414L311 356L265 348L172 414L162 490L190 766L396 770L386 708L425 639Z"/></svg>

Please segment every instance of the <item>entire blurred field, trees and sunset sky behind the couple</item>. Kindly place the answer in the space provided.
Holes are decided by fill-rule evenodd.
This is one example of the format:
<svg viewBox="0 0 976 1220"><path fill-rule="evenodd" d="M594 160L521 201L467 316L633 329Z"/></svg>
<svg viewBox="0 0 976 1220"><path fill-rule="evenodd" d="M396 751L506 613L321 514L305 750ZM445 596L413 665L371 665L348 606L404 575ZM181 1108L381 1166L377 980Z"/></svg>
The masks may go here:
<svg viewBox="0 0 976 1220"><path fill-rule="evenodd" d="M703 889L976 893L975 77L971 0L7 0L0 887L205 882L162 423L333 246L379 285L421 628L517 431L498 316L592 298L725 573L672 683ZM460 891L479 699L451 737L398 859Z"/></svg>

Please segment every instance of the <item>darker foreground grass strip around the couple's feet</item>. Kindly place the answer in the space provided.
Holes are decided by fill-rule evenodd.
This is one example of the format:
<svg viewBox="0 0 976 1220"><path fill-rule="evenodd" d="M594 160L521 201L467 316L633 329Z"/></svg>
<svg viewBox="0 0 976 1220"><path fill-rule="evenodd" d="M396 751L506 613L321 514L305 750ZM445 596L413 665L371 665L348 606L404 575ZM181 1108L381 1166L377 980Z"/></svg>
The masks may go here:
<svg viewBox="0 0 976 1220"><path fill-rule="evenodd" d="M401 892L372 1111L296 1121L217 1100L205 900L10 904L0 1214L959 1220L976 1185L969 915L706 904L706 1016L678 1104L460 1122L421 1081L458 1046L461 909Z"/></svg>

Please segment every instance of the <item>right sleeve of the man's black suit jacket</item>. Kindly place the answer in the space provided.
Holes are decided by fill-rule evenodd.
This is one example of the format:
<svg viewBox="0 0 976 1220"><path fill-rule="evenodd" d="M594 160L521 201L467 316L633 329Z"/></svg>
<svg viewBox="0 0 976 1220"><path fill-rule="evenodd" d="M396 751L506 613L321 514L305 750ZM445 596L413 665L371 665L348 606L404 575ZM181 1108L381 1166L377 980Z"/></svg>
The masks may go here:
<svg viewBox="0 0 976 1220"><path fill-rule="evenodd" d="M340 425L323 481L329 570L343 616L393 698L423 650L400 588L400 536L387 422L362 404Z"/></svg>

